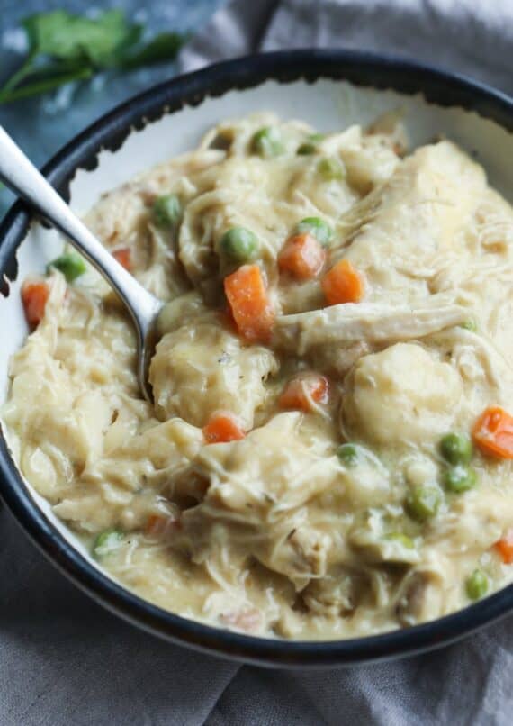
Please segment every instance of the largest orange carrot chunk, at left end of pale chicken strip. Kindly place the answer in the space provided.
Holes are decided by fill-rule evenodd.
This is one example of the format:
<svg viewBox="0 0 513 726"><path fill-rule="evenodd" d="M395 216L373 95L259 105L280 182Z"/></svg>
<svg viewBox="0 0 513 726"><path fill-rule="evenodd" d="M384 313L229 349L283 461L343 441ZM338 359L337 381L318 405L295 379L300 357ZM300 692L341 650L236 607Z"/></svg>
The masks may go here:
<svg viewBox="0 0 513 726"><path fill-rule="evenodd" d="M269 340L275 311L258 265L243 265L225 277L224 292L239 334L249 342Z"/></svg>

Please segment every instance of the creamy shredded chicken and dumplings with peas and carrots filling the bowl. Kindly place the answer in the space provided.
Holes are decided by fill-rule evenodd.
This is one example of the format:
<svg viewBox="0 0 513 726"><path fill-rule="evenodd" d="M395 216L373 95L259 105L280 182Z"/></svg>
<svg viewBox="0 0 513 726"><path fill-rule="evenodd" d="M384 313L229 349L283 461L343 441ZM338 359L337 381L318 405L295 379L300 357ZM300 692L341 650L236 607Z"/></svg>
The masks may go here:
<svg viewBox="0 0 513 726"><path fill-rule="evenodd" d="M339 639L513 580L513 211L390 116L255 114L86 222L167 304L142 400L120 301L74 253L23 283L3 409L98 563L185 617Z"/></svg>

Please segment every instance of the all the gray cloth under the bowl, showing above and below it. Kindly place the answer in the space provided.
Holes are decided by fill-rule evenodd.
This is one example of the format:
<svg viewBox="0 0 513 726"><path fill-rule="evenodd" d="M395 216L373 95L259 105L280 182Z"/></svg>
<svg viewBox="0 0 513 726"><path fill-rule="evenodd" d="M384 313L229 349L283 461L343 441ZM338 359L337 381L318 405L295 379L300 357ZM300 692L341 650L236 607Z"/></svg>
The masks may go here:
<svg viewBox="0 0 513 726"><path fill-rule="evenodd" d="M399 52L513 91L509 0L238 0L182 65L291 45ZM119 621L68 584L5 509L0 575L0 726L513 721L512 618L426 656L288 673L209 658Z"/></svg>

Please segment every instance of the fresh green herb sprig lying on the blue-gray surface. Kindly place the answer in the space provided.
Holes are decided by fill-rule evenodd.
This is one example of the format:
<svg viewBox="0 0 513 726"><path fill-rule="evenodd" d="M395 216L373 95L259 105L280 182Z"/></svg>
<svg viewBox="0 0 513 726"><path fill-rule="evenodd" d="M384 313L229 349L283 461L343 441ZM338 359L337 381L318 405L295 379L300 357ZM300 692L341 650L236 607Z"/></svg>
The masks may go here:
<svg viewBox="0 0 513 726"><path fill-rule="evenodd" d="M121 10L95 18L55 10L23 21L28 53L0 87L0 104L39 95L71 81L108 70L133 70L173 60L187 36L162 32L142 41L143 26L130 23Z"/></svg>

